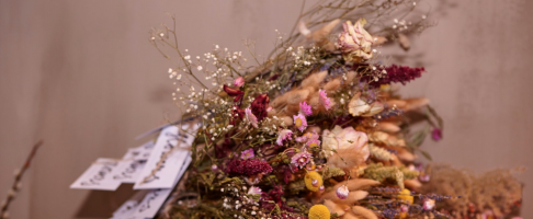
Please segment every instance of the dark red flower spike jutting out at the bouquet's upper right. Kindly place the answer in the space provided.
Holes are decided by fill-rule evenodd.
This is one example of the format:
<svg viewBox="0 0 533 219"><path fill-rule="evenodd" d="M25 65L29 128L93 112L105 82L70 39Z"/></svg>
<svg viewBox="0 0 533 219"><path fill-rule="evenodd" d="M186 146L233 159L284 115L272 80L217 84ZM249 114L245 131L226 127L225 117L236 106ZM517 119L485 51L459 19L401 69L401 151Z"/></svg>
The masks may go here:
<svg viewBox="0 0 533 219"><path fill-rule="evenodd" d="M407 66L396 66L396 65L389 66L385 68L385 70L387 71L387 74L379 78L378 81L372 81L370 83L371 87L377 88L382 84L389 84L393 82L401 83L405 85L407 82L420 78L422 76L422 72L426 72L426 69L423 67L411 68ZM368 79L368 81L371 80L372 79Z"/></svg>

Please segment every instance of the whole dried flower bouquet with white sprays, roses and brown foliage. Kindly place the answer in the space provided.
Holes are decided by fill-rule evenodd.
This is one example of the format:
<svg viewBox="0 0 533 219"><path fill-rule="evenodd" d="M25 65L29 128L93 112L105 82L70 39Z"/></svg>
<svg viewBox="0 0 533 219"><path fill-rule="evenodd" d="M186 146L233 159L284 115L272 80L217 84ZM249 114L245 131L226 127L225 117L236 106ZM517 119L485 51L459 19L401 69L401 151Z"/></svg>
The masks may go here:
<svg viewBox="0 0 533 219"><path fill-rule="evenodd" d="M474 181L442 166L423 171L415 161L416 152L429 158L420 149L427 135L442 138L442 119L427 99L401 99L395 89L421 77L424 68L388 65L377 48L398 42L408 49L407 35L431 25L426 14L405 20L417 11L417 2L331 0L305 12L303 5L292 33L279 34L266 61L260 62L251 53L253 44L247 44L253 68L241 51L218 45L192 57L178 45L175 22L173 28L154 30L151 44L175 65L169 69L180 85L173 100L184 117L202 122L192 165L162 217L472 218L468 208L476 208L474 217L485 209L497 217L509 212L509 204L521 198L510 175L495 172ZM412 131L419 122L426 128ZM494 177L507 178L498 189L511 189L509 196L502 199L486 189L500 186Z"/></svg>

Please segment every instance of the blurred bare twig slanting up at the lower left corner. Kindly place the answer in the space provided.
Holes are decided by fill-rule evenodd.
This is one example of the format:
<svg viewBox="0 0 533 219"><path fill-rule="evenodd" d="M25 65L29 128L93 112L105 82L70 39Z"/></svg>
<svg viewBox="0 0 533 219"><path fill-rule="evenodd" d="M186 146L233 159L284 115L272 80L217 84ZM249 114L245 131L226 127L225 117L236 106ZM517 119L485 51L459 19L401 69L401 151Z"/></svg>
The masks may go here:
<svg viewBox="0 0 533 219"><path fill-rule="evenodd" d="M32 162L33 157L35 155L35 153L37 152L37 149L42 145L43 145L43 140L39 140L37 143L35 143L32 148L32 151L27 155L26 162L24 162L24 165L22 166L22 169L20 171L19 170L15 171L15 178L14 178L13 185L11 186L11 189L8 192L8 197L5 197L5 199L2 203L2 209L0 210L0 219L9 218L8 208L9 208L9 205L11 204L11 201L13 201L16 193L21 188L22 175L24 175L26 170L30 168L30 163Z"/></svg>

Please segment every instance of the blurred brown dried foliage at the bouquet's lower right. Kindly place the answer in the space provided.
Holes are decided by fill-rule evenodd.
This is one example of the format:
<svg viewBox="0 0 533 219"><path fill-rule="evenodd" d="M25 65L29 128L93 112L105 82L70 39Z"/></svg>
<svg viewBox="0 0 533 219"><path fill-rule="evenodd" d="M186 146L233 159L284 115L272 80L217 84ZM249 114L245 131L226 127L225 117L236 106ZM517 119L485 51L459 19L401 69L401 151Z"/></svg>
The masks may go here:
<svg viewBox="0 0 533 219"><path fill-rule="evenodd" d="M510 170L494 170L476 176L447 164L432 164L427 172L431 172L431 180L422 185L421 192L461 197L442 203L458 216L485 210L496 217L508 216L522 199L522 184Z"/></svg>

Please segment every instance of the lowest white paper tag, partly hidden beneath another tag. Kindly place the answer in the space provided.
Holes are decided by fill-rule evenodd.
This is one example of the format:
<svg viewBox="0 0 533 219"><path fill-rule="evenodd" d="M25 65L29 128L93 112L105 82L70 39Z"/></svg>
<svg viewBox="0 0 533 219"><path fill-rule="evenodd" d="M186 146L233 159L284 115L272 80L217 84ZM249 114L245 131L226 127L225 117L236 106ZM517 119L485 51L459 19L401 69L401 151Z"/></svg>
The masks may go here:
<svg viewBox="0 0 533 219"><path fill-rule="evenodd" d="M189 153L183 162L182 168L178 172L178 176L172 184L172 188L183 176L191 161L192 158ZM138 195L139 193L137 193L134 197L132 197L129 200L124 203L117 210L115 210L115 212L113 212L112 219L154 218L158 210L165 204L165 200L167 200L169 195L172 193L172 188L152 189L148 193L145 193L146 195L143 194L143 198L139 198L140 195Z"/></svg>

